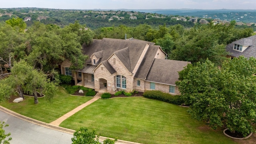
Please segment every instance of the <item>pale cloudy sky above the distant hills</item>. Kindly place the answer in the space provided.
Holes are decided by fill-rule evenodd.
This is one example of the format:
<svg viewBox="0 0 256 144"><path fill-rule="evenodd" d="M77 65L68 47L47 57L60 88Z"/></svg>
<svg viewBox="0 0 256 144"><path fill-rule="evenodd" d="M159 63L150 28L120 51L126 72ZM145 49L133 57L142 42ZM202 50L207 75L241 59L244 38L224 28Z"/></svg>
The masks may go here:
<svg viewBox="0 0 256 144"><path fill-rule="evenodd" d="M1 0L0 8L256 9L256 0Z"/></svg>

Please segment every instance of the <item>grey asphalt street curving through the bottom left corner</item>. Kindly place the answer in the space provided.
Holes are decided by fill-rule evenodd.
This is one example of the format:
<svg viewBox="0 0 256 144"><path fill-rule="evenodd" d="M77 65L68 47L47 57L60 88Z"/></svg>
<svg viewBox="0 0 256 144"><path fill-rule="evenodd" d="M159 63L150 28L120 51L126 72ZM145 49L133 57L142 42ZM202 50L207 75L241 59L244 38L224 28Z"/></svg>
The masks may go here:
<svg viewBox="0 0 256 144"><path fill-rule="evenodd" d="M0 121L9 124L4 130L10 132L10 144L71 144L72 134L26 122L0 111Z"/></svg>

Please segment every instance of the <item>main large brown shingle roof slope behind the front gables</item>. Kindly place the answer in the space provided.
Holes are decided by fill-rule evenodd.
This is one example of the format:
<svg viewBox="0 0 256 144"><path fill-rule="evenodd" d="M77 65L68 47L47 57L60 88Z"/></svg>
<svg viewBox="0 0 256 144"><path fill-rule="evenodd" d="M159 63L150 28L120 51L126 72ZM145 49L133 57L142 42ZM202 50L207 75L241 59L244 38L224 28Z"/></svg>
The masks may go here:
<svg viewBox="0 0 256 144"><path fill-rule="evenodd" d="M121 40L112 38L103 38L102 40L94 39L92 44L88 46L83 45L83 53L92 56L93 53L103 50L102 58L98 62L98 64L100 64L100 62L107 60L114 52L128 48L127 54L129 54L130 57L130 64L125 66L132 72L147 44L148 42L142 40ZM91 63L91 59L89 58L86 63Z"/></svg>

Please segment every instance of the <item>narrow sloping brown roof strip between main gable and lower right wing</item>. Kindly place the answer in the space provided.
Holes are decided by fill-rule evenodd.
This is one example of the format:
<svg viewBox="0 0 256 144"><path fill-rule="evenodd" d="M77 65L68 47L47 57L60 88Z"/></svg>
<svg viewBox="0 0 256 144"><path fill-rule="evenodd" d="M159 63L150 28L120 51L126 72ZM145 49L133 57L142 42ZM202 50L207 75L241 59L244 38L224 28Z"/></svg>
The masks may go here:
<svg viewBox="0 0 256 144"><path fill-rule="evenodd" d="M140 78L144 80L146 79L158 48L159 46L149 46L148 51L146 52L145 57L143 58L134 78Z"/></svg>

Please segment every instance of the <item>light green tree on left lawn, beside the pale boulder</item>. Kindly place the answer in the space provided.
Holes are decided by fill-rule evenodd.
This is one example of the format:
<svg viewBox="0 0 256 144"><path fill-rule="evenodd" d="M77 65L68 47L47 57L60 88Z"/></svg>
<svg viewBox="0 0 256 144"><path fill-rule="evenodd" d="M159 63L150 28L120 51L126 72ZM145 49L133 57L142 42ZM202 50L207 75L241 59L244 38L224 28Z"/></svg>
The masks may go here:
<svg viewBox="0 0 256 144"><path fill-rule="evenodd" d="M18 91L19 96L24 98L23 92L34 94L34 103L38 104L37 89L42 90L47 100L51 100L54 96L57 87L54 81L50 82L47 79L46 74L42 71L38 71L30 66L25 60L15 62L11 69L11 75L4 80L1 80L0 85L0 96L1 91L6 90L5 96L8 98L14 94L15 90ZM9 86L9 87L8 87ZM10 88L11 87L11 88ZM6 89L10 88L10 89Z"/></svg>

